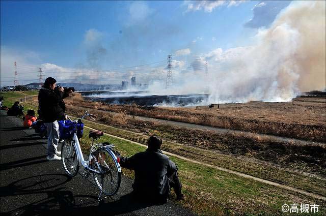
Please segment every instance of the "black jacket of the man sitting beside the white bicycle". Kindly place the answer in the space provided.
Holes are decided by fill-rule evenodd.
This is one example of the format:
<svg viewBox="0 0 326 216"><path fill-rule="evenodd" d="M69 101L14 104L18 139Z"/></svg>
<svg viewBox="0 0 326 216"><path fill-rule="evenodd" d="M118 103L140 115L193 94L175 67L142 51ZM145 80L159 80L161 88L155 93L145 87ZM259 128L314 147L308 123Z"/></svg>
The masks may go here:
<svg viewBox="0 0 326 216"><path fill-rule="evenodd" d="M154 202L166 202L169 176L178 168L160 149L146 149L130 158L120 158L121 167L134 170L133 192L137 197Z"/></svg>

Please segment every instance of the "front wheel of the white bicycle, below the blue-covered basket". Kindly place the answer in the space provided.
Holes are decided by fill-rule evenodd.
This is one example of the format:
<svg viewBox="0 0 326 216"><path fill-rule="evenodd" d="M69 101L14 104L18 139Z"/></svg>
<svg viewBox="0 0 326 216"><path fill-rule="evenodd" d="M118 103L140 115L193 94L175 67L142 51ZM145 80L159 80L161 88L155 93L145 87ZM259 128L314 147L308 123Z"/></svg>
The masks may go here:
<svg viewBox="0 0 326 216"><path fill-rule="evenodd" d="M79 158L75 146L71 140L65 140L61 147L62 164L66 173L73 177L79 170Z"/></svg>

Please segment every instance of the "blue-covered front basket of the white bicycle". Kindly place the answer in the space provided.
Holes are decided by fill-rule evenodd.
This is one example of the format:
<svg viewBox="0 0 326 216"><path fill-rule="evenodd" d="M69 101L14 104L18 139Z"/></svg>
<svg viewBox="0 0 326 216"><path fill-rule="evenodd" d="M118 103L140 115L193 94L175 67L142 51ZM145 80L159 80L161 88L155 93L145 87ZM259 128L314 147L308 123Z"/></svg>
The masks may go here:
<svg viewBox="0 0 326 216"><path fill-rule="evenodd" d="M73 137L76 122L70 120L60 120L59 122L59 132L61 139L69 139ZM83 137L84 124L82 122L77 123L77 137Z"/></svg>

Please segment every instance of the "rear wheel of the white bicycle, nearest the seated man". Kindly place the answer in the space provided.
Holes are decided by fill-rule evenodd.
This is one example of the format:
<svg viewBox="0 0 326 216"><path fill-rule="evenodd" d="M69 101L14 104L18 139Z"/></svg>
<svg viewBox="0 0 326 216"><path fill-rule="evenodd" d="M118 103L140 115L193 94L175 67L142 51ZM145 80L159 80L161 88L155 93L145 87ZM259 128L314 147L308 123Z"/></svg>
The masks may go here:
<svg viewBox="0 0 326 216"><path fill-rule="evenodd" d="M96 150L92 159L92 168L99 173L93 173L97 187L106 196L116 194L120 187L121 173L115 159L106 149Z"/></svg>

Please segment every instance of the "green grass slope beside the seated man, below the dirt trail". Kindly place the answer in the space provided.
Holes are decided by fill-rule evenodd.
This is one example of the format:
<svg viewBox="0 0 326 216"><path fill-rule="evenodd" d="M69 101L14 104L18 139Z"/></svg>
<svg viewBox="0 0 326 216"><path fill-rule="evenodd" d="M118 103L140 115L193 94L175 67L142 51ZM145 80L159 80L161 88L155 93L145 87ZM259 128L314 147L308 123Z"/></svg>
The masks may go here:
<svg viewBox="0 0 326 216"><path fill-rule="evenodd" d="M86 123L88 125L88 123ZM80 139L82 149L89 153L91 140L86 136L89 129L84 129L85 136ZM104 135L100 142L110 142L124 157L144 151L146 147L118 138ZM319 212L326 213L322 200L297 194L270 186L255 180L198 165L176 157L170 157L179 167L179 177L185 201L179 201L184 207L201 215L279 215L283 204L318 204ZM123 174L133 178L133 171L123 169ZM305 214L303 214L305 215Z"/></svg>

